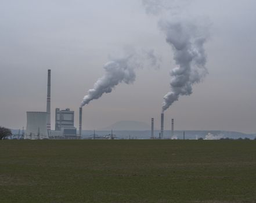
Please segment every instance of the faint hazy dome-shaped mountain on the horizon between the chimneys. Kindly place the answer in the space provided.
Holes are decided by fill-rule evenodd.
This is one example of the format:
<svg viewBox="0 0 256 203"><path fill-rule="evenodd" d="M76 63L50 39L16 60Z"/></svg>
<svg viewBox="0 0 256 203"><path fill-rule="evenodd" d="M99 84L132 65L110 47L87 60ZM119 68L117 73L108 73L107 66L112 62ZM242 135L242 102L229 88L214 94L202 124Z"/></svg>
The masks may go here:
<svg viewBox="0 0 256 203"><path fill-rule="evenodd" d="M118 121L106 128L99 129L100 131L146 131L150 129L150 125L140 121Z"/></svg>

